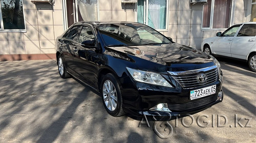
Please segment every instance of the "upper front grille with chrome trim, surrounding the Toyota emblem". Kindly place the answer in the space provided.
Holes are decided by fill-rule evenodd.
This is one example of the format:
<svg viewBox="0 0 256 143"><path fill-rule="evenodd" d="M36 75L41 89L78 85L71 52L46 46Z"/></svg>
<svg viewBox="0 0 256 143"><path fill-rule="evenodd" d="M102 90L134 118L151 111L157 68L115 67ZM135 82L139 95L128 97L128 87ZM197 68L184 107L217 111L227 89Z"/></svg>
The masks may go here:
<svg viewBox="0 0 256 143"><path fill-rule="evenodd" d="M206 74L206 82L205 83L199 83L198 82L198 75L201 73ZM184 89L192 89L196 87L201 87L207 84L214 83L217 81L218 73L217 68L214 68L212 70L200 72L200 73L194 73L189 75L178 75L178 76L172 76Z"/></svg>

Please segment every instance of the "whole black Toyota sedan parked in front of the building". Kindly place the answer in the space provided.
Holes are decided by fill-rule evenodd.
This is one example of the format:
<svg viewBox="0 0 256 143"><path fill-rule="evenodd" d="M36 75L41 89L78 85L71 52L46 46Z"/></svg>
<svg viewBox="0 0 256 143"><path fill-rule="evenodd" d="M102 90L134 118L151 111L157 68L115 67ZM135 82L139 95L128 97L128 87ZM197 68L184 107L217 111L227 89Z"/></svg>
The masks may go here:
<svg viewBox="0 0 256 143"><path fill-rule="evenodd" d="M77 22L57 38L56 49L60 76L99 92L115 117L179 116L223 99L214 57L144 24Z"/></svg>

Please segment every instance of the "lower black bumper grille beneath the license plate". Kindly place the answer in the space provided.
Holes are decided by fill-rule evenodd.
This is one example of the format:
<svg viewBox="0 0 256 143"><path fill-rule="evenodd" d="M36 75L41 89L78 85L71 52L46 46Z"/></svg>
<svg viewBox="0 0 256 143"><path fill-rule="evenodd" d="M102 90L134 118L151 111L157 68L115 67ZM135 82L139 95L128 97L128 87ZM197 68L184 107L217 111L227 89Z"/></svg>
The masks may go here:
<svg viewBox="0 0 256 143"><path fill-rule="evenodd" d="M200 100L196 100L196 101L192 101L192 102L188 102L188 103L180 103L180 104L171 104L168 103L168 108L169 110L173 111L186 111L186 110L191 110L193 108L198 108L204 105L208 105L210 103L213 103L217 100L217 95L214 96L207 96L205 98L202 98Z"/></svg>

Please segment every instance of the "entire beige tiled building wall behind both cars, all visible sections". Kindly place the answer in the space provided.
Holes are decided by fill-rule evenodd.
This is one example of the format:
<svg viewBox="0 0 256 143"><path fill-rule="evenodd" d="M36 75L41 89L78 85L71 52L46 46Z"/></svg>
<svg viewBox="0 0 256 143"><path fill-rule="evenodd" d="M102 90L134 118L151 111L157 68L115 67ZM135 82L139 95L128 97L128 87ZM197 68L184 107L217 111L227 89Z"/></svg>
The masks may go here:
<svg viewBox="0 0 256 143"><path fill-rule="evenodd" d="M136 4L121 0L99 0L100 21L136 22ZM246 22L247 0L235 2L234 24ZM0 32L0 55L55 53L55 39L63 33L62 0L33 4L23 0L26 32ZM200 49L205 38L214 37L216 30L201 30L203 4L190 5L190 0L170 0L169 27L161 32L173 41Z"/></svg>

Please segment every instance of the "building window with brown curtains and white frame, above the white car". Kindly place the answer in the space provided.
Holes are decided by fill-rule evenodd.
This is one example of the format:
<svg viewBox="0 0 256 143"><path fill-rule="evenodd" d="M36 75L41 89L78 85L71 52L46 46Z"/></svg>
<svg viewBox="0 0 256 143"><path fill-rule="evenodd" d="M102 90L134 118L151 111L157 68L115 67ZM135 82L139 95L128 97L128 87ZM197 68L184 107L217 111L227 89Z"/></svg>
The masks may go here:
<svg viewBox="0 0 256 143"><path fill-rule="evenodd" d="M230 25L232 0L207 0L203 7L202 28L226 29Z"/></svg>

